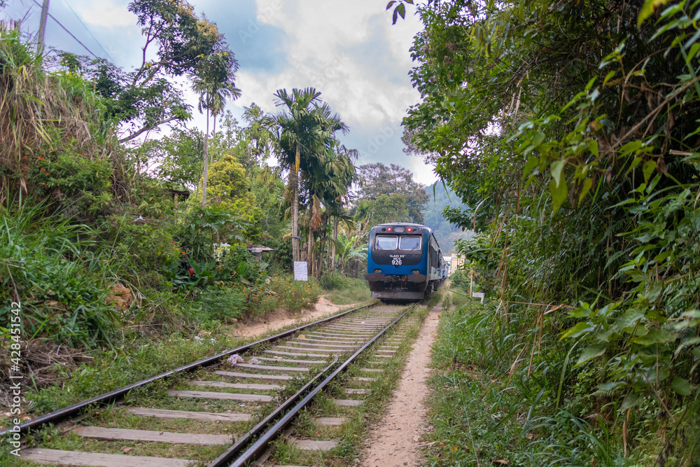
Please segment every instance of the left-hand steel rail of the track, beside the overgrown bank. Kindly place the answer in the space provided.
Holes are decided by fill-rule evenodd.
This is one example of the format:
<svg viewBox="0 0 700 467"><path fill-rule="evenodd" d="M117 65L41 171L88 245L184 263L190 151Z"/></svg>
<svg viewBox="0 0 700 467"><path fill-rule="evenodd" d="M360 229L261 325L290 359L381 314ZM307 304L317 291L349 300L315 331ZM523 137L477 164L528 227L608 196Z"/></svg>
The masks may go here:
<svg viewBox="0 0 700 467"><path fill-rule="evenodd" d="M146 384L151 384L154 381L158 381L159 379L167 378L172 375L177 375L179 373L184 373L184 372L190 372L192 370L196 370L197 368L202 368L206 367L209 365L213 365L214 363L220 361L222 358L225 358L227 356L231 356L232 354L238 354L240 352L246 351L248 349L251 349L253 346L258 345L258 344L265 344L269 342L275 342L276 340L282 339L283 337L287 337L289 335L292 335L293 333L296 333L299 330L309 328L311 326L316 326L321 323L327 323L328 321L332 321L334 319L340 318L341 316L345 316L346 314L356 312L359 309L365 309L365 308L371 308L377 305L379 302L374 302L370 303L370 305L364 305L363 307L357 307L353 309L349 309L346 312L342 312L339 314L335 314L333 316L330 316L328 318L324 319L319 319L318 321L314 321L312 323L304 324L303 326L299 326L298 328L293 328L290 330L283 331L282 333L271 335L270 337L265 337L264 339L256 340L255 342L251 342L250 344L245 344L242 345L241 347L236 347L235 349L227 350L222 352L221 354L216 354L214 356L210 356L207 358L202 358L202 360L195 361L193 363L189 363L188 365L181 366L179 368L176 368L174 370L169 370L165 373L161 373L160 375L155 375L146 379L141 379L141 381L129 384L128 386L124 386L120 389L115 389L114 391L110 391L108 393L104 393L100 396L95 396L93 398L83 400L82 402L75 403L73 405L69 405L68 407L64 407L59 410L55 410L53 412L49 412L48 414L43 414L39 417L36 417L35 419L27 420L19 425L15 426L9 426L8 428L3 429L0 431L0 436L6 435L7 433L10 432L10 429L15 430L17 426L19 426L20 431L13 431L13 433L27 433L29 430L33 430L36 428L39 428L40 426L43 426L48 423L57 423L59 421L63 421L64 419L67 419L69 417L74 417L77 414L80 413L81 410L85 410L87 407L90 407L90 405L93 404L107 404L112 402L113 400L116 400L122 396L124 396L127 392L131 391L132 389L139 388L141 386L146 386Z"/></svg>

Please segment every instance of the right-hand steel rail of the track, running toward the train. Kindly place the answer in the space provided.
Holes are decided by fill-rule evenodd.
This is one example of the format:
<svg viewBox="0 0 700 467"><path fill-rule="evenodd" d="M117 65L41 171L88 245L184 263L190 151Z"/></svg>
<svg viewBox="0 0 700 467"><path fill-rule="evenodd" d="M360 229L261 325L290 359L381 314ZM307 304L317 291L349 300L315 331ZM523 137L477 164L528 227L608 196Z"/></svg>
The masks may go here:
<svg viewBox="0 0 700 467"><path fill-rule="evenodd" d="M357 351L355 351L355 353L352 354L351 356L349 356L349 358L347 358L346 361L344 361L343 363L341 363L341 365L340 365L338 368L336 368L335 371L333 371L330 375L328 375L328 377L326 377L326 378L323 380L323 382L321 382L320 384L318 384L318 386L314 387L314 389L312 389L309 393L307 393L307 395L304 396L304 398L302 398L302 400L300 400L300 402L297 403L297 405L295 405L289 412L287 412L286 414L284 414L283 417L281 417L281 419L279 419L278 421L276 421L276 423L275 423L271 428L269 428L267 431L265 431L265 433L262 433L262 435L260 435L260 438L258 438L257 440L255 440L255 442L253 443L253 445L251 445L250 447L248 447L248 449L246 449L246 450L243 452L243 454L241 454L240 456L238 456L238 457L237 457L236 459L234 459L233 461L229 461L229 459L231 459L233 456L235 456L235 454L237 454L237 452L239 452L239 451L241 450L241 448L243 447L242 445L243 445L244 443L243 443L243 442L240 442L240 441L242 440L242 438L241 438L241 440L239 440L239 442L236 442L234 445L232 445L232 447L230 447L230 448L227 449L223 454L221 454L221 456L218 456L217 459L215 459L213 462L211 462L211 463L209 464L208 467L222 467L222 466L228 466L228 467L243 467L243 466L248 465L249 462L252 462L252 461L255 459L255 457L258 456L258 454L260 453L260 451L262 451L262 449L265 448L265 446L267 445L267 443L269 443L273 438L275 438L276 435L277 435L280 431L282 431L282 430L290 423L290 421L293 419L293 417L295 417L295 415L296 415L300 410L302 410L302 408L304 408L306 405L309 404L309 402L311 402L311 399L312 399L314 396L316 396L316 394L318 394L323 388L325 388L325 386L328 386L328 384L329 384L333 379L335 379L335 377L337 377L337 375L339 375L340 372L346 370L346 368L348 367L348 365L350 365L350 363L352 363L353 360L355 360L355 358L357 358L363 351L365 351L368 347L370 347L370 345L374 344L374 342L375 342L377 339L379 339L379 337L381 337L382 335L384 335L384 333L386 333L386 331L387 331L389 328L391 328L391 326L393 326L393 325L394 325L395 323L397 323L400 319L402 319L404 316L406 316L406 314L407 314L411 309L413 309L416 305L418 305L417 302L414 303L413 305L411 305L410 307L408 307L408 308L405 310L405 312L403 312L400 316L398 316L398 317L397 317L396 319L394 319L391 323L389 323L384 329L380 330L379 333L377 333L376 335L374 335L374 337L372 337L372 339L370 339L370 340L368 340L367 342L365 342L365 344L364 344L362 347L360 347ZM324 370L324 371L326 371L326 370ZM316 378L318 378L318 376L320 376L320 374L317 375ZM314 378L314 380L315 380L316 378ZM307 385L308 385L308 384L307 384ZM304 387L305 387L305 386L304 386ZM288 400L286 400L285 404L288 403L288 402L289 402L290 400L292 400L293 398L298 398L298 397L300 396L300 392L301 392L301 391L297 392L297 394L295 394L292 398L289 398ZM298 396L297 396L297 395L298 395ZM268 417L268 418L269 418L269 417ZM267 418L266 418L266 419L267 419ZM258 424L258 426L255 426L255 428L260 427L260 428L258 429L258 431L261 431L261 430L262 430L262 426L260 426L260 425L262 425L262 422L260 422L260 424ZM253 428L253 430L255 430L255 428ZM252 432L253 430L251 430L251 432ZM250 434L251 432L246 433L246 435ZM245 437L245 436L244 436L244 437ZM251 438L251 437L248 436L247 438L249 439L249 438Z"/></svg>

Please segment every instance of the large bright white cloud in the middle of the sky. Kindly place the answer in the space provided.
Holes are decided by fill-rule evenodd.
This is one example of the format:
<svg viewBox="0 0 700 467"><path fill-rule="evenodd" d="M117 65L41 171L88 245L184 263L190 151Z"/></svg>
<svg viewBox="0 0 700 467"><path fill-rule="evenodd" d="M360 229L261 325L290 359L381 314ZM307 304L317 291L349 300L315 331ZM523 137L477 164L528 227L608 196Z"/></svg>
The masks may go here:
<svg viewBox="0 0 700 467"><path fill-rule="evenodd" d="M419 99L407 77L408 50L420 29L410 14L392 26L391 13L376 0L258 0L258 21L286 32L290 67L276 75L241 70L241 102L265 108L264 99L276 89L312 85L351 127L373 129L398 124L407 106ZM370 43L372 38L379 41ZM363 46L384 49L379 56L388 60L372 62L353 50ZM397 73L405 76L402 83L395 82Z"/></svg>

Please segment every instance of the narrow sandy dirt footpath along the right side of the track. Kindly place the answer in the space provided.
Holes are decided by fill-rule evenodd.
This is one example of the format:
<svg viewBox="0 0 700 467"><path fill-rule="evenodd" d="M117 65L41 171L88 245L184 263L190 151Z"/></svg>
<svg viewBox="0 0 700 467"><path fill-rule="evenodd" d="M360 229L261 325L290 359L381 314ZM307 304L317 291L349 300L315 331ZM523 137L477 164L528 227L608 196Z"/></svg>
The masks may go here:
<svg viewBox="0 0 700 467"><path fill-rule="evenodd" d="M363 466L414 467L423 463L418 445L425 431L430 346L435 342L440 311L440 305L430 310L384 418L370 428L370 447L363 452Z"/></svg>

